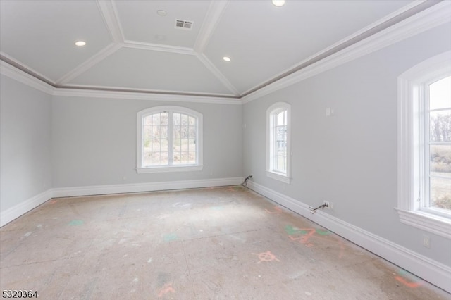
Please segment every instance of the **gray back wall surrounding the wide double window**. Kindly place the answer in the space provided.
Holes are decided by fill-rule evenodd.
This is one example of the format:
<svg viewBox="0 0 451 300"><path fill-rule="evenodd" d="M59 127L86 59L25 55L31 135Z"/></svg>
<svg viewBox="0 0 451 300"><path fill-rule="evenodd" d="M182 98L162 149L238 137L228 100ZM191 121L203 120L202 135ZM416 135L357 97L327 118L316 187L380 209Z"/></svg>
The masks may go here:
<svg viewBox="0 0 451 300"><path fill-rule="evenodd" d="M161 105L204 115L202 171L136 173L136 113ZM52 123L54 187L242 176L240 105L54 96Z"/></svg>

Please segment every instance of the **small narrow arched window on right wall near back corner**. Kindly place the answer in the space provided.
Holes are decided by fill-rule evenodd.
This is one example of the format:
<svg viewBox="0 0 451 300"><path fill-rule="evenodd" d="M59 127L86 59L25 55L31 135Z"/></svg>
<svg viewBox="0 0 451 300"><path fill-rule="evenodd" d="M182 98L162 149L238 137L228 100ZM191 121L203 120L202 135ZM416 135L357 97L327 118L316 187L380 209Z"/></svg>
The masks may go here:
<svg viewBox="0 0 451 300"><path fill-rule="evenodd" d="M268 177L290 183L290 104L273 104L266 112Z"/></svg>

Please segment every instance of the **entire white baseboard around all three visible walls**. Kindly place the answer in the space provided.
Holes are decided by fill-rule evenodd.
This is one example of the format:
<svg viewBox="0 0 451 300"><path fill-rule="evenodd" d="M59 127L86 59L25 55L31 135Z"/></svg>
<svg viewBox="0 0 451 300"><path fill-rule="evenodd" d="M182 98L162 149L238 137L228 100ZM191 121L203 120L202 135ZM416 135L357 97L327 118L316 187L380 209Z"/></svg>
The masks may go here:
<svg viewBox="0 0 451 300"><path fill-rule="evenodd" d="M199 187L220 187L226 185L240 185L242 181L242 177L232 177L211 180L185 180L129 185L100 185L91 187L65 187L49 189L26 201L23 201L16 206L13 206L12 208L8 208L6 211L1 212L0 227L20 217L20 215L31 211L33 208L43 204L45 201L55 197L152 192L168 189L191 189ZM416 252L404 248L403 246L390 242L387 239L383 239L377 235L373 235L371 232L362 230L362 228L346 223L333 217L332 215L323 213L322 211L318 211L312 215L310 213L309 206L306 204L285 196L284 194L280 194L279 192L273 191L272 189L268 189L262 185L258 185L255 182L248 182L247 187L451 293L451 286L449 285L451 282L451 268L449 266L433 261L431 258L417 254Z"/></svg>

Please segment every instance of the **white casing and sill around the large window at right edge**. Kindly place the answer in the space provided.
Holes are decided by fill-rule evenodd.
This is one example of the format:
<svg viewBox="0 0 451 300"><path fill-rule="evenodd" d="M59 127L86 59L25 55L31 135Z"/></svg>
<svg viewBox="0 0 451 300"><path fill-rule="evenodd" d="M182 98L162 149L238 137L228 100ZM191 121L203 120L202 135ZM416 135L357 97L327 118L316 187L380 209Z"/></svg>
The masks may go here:
<svg viewBox="0 0 451 300"><path fill-rule="evenodd" d="M415 65L398 77L397 208L395 209L402 223L451 239L450 218L419 209L420 204L417 200L423 178L414 159L419 155L420 146L419 137L414 136L414 127L419 127L419 121L415 115L418 115L420 109L415 104L424 97L423 87L432 77L445 77L449 74L451 74L451 51L446 51Z"/></svg>

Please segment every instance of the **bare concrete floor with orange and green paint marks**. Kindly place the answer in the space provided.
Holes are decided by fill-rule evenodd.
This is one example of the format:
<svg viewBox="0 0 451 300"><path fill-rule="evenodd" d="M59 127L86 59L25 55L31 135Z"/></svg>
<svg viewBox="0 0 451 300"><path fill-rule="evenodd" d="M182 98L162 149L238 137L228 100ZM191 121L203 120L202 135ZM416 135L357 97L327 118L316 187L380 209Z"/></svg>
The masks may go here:
<svg viewBox="0 0 451 300"><path fill-rule="evenodd" d="M51 199L0 246L38 299L451 299L241 186Z"/></svg>

